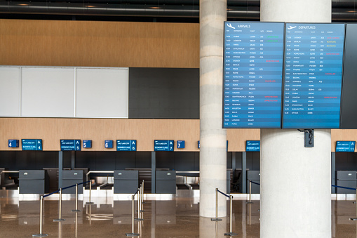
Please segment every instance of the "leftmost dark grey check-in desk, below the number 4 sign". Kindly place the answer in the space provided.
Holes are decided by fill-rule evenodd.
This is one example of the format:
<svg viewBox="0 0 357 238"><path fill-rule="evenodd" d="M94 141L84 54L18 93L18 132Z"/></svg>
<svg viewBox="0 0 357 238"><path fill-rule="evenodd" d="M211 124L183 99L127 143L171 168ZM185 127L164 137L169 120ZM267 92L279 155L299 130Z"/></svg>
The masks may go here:
<svg viewBox="0 0 357 238"><path fill-rule="evenodd" d="M20 194L45 194L50 190L50 179L44 170L19 171Z"/></svg>

